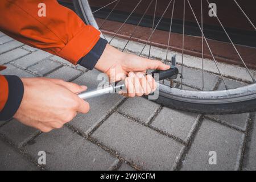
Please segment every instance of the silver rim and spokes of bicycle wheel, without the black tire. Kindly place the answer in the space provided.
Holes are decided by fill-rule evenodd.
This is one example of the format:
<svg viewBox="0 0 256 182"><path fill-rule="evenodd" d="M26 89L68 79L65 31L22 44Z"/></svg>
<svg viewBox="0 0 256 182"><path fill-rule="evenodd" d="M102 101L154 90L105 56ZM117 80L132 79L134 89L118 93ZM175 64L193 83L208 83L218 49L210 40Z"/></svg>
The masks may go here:
<svg viewBox="0 0 256 182"><path fill-rule="evenodd" d="M74 0L74 1L76 1L76 0ZM86 19L86 23L88 23L88 24L90 24L90 25L92 25L92 26L94 26L94 27L96 27L96 28L98 28L100 30L100 28L104 25L105 21L99 27L97 22L96 22L96 20L94 19L92 10L90 9L89 2L87 0L78 0L78 1L79 1L79 6L80 6L80 8L82 10L82 14L83 14L84 18ZM108 5L110 5L112 3L115 3L115 6L114 6L114 8L115 8L120 1L121 0L113 0L113 2L109 3ZM154 1L155 1L155 4L153 3ZM202 9L202 1L203 0L201 0L201 9ZM206 1L208 2L208 0L206 0ZM138 5L141 2L142 2L142 0L138 2ZM186 2L188 3L188 6L191 8L192 13L195 16L195 13L193 11L193 8L192 8L191 3L189 2L189 0L184 0L184 10L183 10L184 16L185 16L185 3ZM235 0L234 0L234 2L240 8L240 10L242 11L243 15L246 16L247 20L251 23L249 17L247 17L247 15L241 9L241 7L238 5L238 3ZM166 7L166 11L167 11L168 7L171 7L170 6L171 3L172 3L172 10L174 10L175 0L170 0L170 3ZM108 6L108 5L106 5L106 6ZM150 3L148 4L148 7L150 7L151 5L154 5L155 6L155 10L156 10L157 0L150 1ZM137 8L137 6L134 7L134 10ZM147 13L148 7L144 11L144 14L142 15L141 20L144 18L144 15ZM114 10L114 8L113 8L113 10ZM112 13L112 11L110 12L110 14ZM164 11L163 15L166 13L166 11ZM132 13L133 12L131 12L131 14ZM127 17L127 19L129 19L130 15ZM163 15L161 16L160 20L162 19ZM172 13L172 16L173 16L173 13ZM107 16L106 19L108 19L108 16ZM201 30L201 34L202 34L201 35L201 37L202 37L202 50L203 50L203 46L204 46L203 45L203 40L205 40L205 42L207 43L207 39L205 38L204 32L203 32L203 15L201 15L201 25L199 23L199 20L197 20L196 16L195 16L195 19L196 19L197 24L199 25L200 30ZM126 20L125 20L125 22L123 22L123 24L126 23ZM160 22L160 20L159 20L159 22ZM172 17L171 17L171 20L172 20ZM225 28L222 25L222 23L220 22L220 19L218 19L218 17L217 17L217 20L221 24L221 27L225 31ZM148 38L147 43L145 44L144 48L147 46L147 44L150 44L150 46L151 46L151 36L154 34L154 31L156 30L159 22L155 22L155 14L154 14L154 21L153 21L153 24L152 24L152 32L151 32L151 35ZM140 23L141 23L141 21L139 21L137 27L139 26ZM122 24L122 26L123 26L123 24ZM183 21L183 24L184 24L184 21ZM252 24L252 26L254 26L253 23L251 23L251 24ZM119 30L122 28L122 26L119 28ZM135 30L136 30L137 27L135 27ZM171 28L172 28L172 21L171 21L171 25L170 25L170 32L171 32ZM135 32L135 30L134 30L134 32ZM112 42L112 40L117 35L118 31L115 33L115 35L113 36L113 38L110 40L109 43ZM134 34L134 32L133 32L133 34ZM183 32L184 32L184 25L183 25ZM133 34L131 35L131 37L133 36ZM226 35L229 38L229 35L228 35L227 32L226 32ZM183 34L183 36L184 36L184 34ZM104 38L103 34L102 34L102 37ZM130 39L131 39L131 37L130 37ZM128 40L127 44L129 43L130 39ZM232 42L231 39L230 39L230 42L232 43L232 46L236 49L236 46L234 45L234 43ZM127 46L127 44L126 44L126 46ZM184 42L183 42L183 46L184 46ZM210 50L210 47L209 47L208 43L207 43L207 46L208 46L208 48ZM168 47L169 47L169 42L168 42ZM167 47L167 55L168 55L168 47ZM141 53L143 52L143 49L142 49ZM125 50L125 48L123 48L123 51L124 50ZM236 51L237 51L237 49L236 49ZM204 63L204 57L203 57L203 54L202 54L203 91L200 91L200 90L199 91L191 91L191 90L182 90L182 89L177 89L177 88L170 88L167 85L159 83L159 95L163 96L163 97L167 97L167 98L173 99L173 100L183 101L183 102L190 102L190 103L193 103L193 104L227 104L227 103L242 102L242 101L249 101L249 100L256 99L256 83L255 83L254 77L249 72L249 69L247 68L246 64L244 63L242 57L240 56L240 53L237 51L238 56L240 56L241 61L243 62L243 65L245 65L245 68L247 69L248 74L252 78L253 84L242 86L242 87L236 88L236 89L228 89L228 86L225 83L224 77L222 76L222 74L220 72L220 69L218 68L218 63L214 59L212 51L210 51L210 53L212 54L213 61L216 64L216 67L218 69L218 72L220 73L222 81L224 82L226 90L204 91L204 67L203 67L204 66L204 64L203 64ZM150 52L148 53L148 57L149 56L150 56ZM181 65L181 73L182 73L182 71L183 71L183 64ZM181 88L182 88L182 78L181 78Z"/></svg>

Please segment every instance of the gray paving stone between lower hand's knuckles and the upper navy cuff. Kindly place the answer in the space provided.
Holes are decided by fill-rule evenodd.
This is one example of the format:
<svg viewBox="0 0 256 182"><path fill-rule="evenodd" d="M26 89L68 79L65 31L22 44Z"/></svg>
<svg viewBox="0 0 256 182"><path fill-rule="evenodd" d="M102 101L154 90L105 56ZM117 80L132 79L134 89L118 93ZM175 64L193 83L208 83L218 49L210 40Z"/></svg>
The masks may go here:
<svg viewBox="0 0 256 182"><path fill-rule="evenodd" d="M78 71L77 69L73 69L71 67L65 66L65 67L62 67L62 68L57 69L56 71L50 73L46 77L59 78L59 79L65 80L65 81L70 81L70 80L75 79L80 74L81 74L81 72Z"/></svg>

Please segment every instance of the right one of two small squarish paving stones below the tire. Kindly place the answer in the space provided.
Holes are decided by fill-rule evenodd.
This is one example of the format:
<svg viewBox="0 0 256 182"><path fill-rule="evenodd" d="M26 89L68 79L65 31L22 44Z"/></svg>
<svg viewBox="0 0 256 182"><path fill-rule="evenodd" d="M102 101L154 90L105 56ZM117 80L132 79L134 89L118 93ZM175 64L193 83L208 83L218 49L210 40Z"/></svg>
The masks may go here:
<svg viewBox="0 0 256 182"><path fill-rule="evenodd" d="M151 126L186 140L198 114L177 111L163 107Z"/></svg>

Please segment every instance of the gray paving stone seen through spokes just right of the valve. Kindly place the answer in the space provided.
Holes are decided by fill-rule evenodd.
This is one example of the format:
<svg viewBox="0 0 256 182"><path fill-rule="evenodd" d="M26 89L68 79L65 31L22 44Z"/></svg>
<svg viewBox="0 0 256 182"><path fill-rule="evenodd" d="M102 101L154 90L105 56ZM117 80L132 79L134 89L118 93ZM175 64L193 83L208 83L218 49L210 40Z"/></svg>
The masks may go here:
<svg viewBox="0 0 256 182"><path fill-rule="evenodd" d="M179 72L181 73L181 67L177 66L177 68L179 68ZM204 73L204 79L207 80L204 82L205 90L213 90L218 81L218 76ZM178 76L176 81L181 82L181 78ZM201 89L203 85L202 72L196 69L183 67L183 83L192 88Z"/></svg>

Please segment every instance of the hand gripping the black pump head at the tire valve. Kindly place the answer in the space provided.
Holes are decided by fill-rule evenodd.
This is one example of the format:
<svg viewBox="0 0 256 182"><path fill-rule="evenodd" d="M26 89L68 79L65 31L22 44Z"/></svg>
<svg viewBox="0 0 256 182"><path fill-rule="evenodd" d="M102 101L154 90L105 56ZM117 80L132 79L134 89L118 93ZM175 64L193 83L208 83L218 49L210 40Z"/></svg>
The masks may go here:
<svg viewBox="0 0 256 182"><path fill-rule="evenodd" d="M110 82L123 80L125 76L128 76L125 78L127 93L122 94L134 97L148 95L156 89L154 78L150 75L144 76L142 73L145 73L147 69L166 70L170 68L170 65L123 53L107 44L95 68L106 73Z"/></svg>

